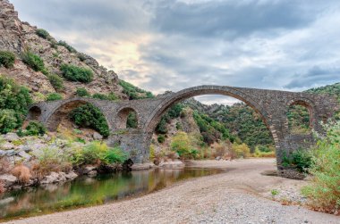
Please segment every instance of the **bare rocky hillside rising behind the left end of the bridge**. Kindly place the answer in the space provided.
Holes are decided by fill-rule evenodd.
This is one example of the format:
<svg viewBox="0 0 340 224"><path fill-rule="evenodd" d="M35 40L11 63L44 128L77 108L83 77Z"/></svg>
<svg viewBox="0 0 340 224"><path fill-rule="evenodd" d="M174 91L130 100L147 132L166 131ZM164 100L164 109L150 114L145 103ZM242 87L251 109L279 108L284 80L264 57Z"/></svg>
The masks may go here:
<svg viewBox="0 0 340 224"><path fill-rule="evenodd" d="M18 12L14 11L13 4L8 0L0 0L0 50L10 51L16 54L16 61L12 69L0 68L0 74L9 76L21 85L29 87L32 92L43 95L55 92L47 77L41 72L30 69L21 62L21 53L30 49L34 54L40 56L50 73L61 76L60 65L71 63L80 67L89 68L94 73L94 79L89 84L71 82L64 79L64 97L72 97L77 87L85 87L89 93L108 94L115 92L121 98L126 98L122 93L122 87L118 86L118 76L115 71L107 71L99 66L98 62L86 54L70 52L65 46L57 45L54 37L47 39L39 37L37 27L28 22L20 21ZM33 94L34 95L34 94Z"/></svg>

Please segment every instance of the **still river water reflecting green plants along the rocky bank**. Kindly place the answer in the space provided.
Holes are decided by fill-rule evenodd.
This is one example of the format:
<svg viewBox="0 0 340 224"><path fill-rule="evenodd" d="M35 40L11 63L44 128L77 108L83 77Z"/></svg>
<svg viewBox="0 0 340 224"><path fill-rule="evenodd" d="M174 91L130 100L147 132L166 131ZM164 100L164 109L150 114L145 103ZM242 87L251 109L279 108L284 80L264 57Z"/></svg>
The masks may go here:
<svg viewBox="0 0 340 224"><path fill-rule="evenodd" d="M0 195L0 221L146 195L177 181L221 173L218 169L135 170L76 178L60 185L30 187Z"/></svg>

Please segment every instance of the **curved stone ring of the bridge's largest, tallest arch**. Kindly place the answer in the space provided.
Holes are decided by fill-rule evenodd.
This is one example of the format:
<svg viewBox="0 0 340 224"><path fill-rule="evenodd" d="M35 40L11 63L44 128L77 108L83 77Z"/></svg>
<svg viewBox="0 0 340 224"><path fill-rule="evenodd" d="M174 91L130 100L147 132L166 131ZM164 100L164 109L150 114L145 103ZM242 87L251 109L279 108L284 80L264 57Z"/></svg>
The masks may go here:
<svg viewBox="0 0 340 224"><path fill-rule="evenodd" d="M157 108L151 112L149 115L149 120L147 121L145 125L145 130L147 133L150 134L154 131L154 129L157 126L157 123L161 119L162 115L174 104L177 104L185 99L188 99L193 96L197 95L227 95L232 96L236 99L241 100L245 104L251 106L252 109L254 109L256 112L259 112L262 120L268 127L275 145L276 150L280 148L280 144L278 141L278 138L276 136L276 128L272 124L271 116L268 114L265 108L261 104L258 103L258 98L256 98L253 95L249 95L246 93L243 93L239 89L233 88L233 87L221 87L221 86L200 86L200 87L191 87L183 89L182 91L179 91L177 93L174 93L173 95L169 95L165 98L164 101L162 101L161 104L157 106Z"/></svg>

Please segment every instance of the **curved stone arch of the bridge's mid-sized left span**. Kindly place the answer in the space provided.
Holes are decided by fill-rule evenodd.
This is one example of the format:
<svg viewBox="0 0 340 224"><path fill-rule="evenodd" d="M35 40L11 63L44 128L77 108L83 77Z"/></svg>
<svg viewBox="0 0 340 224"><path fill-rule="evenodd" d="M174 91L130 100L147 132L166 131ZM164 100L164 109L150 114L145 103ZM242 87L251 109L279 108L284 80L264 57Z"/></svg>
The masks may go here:
<svg viewBox="0 0 340 224"><path fill-rule="evenodd" d="M59 101L55 107L47 114L45 118L45 124L49 131L55 131L57 127L59 126L60 122L68 116L70 112L72 112L73 109L84 105L84 104L92 104L96 106L103 114L106 119L106 123L109 127L110 122L107 120L107 116L105 111L102 109L101 104L98 104L98 101L91 100L87 98L73 98L68 100Z"/></svg>

